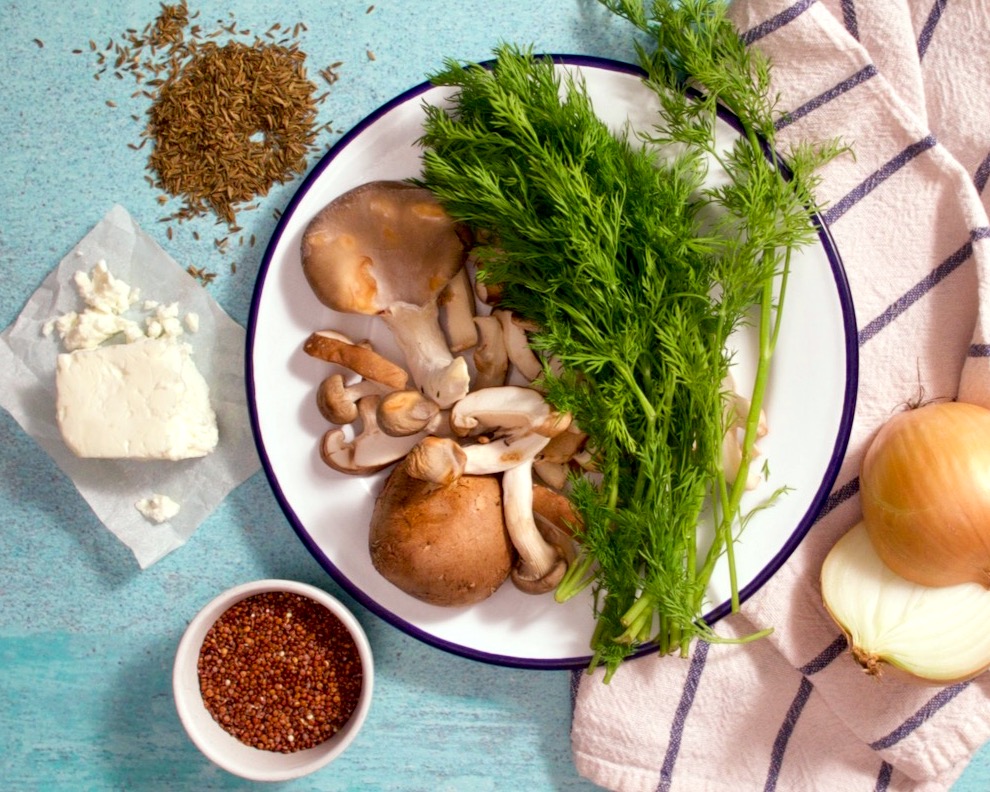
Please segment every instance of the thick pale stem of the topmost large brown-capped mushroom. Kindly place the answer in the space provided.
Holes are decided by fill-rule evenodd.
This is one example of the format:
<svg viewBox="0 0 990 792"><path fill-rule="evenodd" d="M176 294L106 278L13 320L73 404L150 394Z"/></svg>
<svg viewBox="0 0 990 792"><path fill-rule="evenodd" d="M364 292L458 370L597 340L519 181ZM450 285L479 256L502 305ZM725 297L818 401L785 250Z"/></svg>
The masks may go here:
<svg viewBox="0 0 990 792"><path fill-rule="evenodd" d="M402 351L416 386L441 409L467 395L471 377L467 361L454 357L440 326L436 302L395 303L381 316Z"/></svg>

